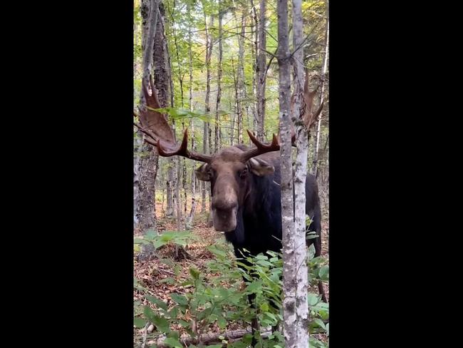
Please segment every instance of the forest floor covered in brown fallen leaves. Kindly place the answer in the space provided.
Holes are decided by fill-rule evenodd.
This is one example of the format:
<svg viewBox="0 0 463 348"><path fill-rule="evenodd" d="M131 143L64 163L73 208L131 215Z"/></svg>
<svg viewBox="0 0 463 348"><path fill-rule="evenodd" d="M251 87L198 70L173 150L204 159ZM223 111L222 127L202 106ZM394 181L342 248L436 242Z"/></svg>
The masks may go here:
<svg viewBox="0 0 463 348"><path fill-rule="evenodd" d="M187 205L187 212L189 213L191 204ZM166 245L165 247L157 250L157 255L151 257L150 260L140 261L137 260L135 255L134 258L134 277L137 282L140 283L149 295L155 296L158 299L167 302L167 305L172 305L172 300L170 294L178 293L182 294L187 292L187 289L184 289L180 284L191 276L189 275L189 267L194 265L200 272L206 272L207 267L205 266L207 262L213 260L215 257L212 252L207 250L209 245L214 245L217 242L224 242L225 238L222 232L217 232L214 230L214 227L207 227L207 214L199 213L201 207L197 207L197 213L194 215L192 233L198 238L194 242L189 243L185 250L191 258L184 259L180 261L173 261L175 247L171 245ZM175 225L175 220L168 219L164 217L164 207L161 202L156 203L156 212L157 216L157 227L160 227L160 233L163 230L177 230ZM329 260L328 254L328 237L329 237L329 227L328 227L328 218L324 216L322 221L322 256L326 257ZM138 233L135 231L135 235ZM136 254L136 253L135 253ZM165 262L165 260L171 260L172 262ZM329 261L328 261L329 262ZM173 278L174 281L166 282L167 278ZM164 281L163 281L164 280ZM326 284L324 284L326 297L329 300L329 289ZM311 292L318 293L316 285L311 286ZM147 294L147 295L148 295ZM140 305L150 305L154 308L154 305L148 302L145 299L145 296L142 295L138 290L134 289L133 294L134 302L140 303ZM183 327L178 325L178 327L171 327L173 330L178 330L180 334L184 334ZM234 329L246 329L245 327L237 326L234 323L227 325L228 330ZM209 333L219 333L219 327L217 324L214 324L209 327ZM142 335L144 333L143 329L137 329L134 327L134 347L137 347L140 342L142 342ZM324 340L324 339L323 339ZM154 344L155 341L150 340L150 337L147 338L147 347L150 347L150 344Z"/></svg>

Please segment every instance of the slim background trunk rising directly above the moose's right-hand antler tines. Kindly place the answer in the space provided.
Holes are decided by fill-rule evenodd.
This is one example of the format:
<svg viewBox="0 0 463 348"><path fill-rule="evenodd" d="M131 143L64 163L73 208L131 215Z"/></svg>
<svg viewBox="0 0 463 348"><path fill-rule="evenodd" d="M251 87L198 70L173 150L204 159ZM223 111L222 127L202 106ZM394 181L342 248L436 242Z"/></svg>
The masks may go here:
<svg viewBox="0 0 463 348"><path fill-rule="evenodd" d="M266 72L266 0L260 0L259 9L259 51L257 55L257 115L259 128L257 128L257 138L264 140L265 123L265 72Z"/></svg>

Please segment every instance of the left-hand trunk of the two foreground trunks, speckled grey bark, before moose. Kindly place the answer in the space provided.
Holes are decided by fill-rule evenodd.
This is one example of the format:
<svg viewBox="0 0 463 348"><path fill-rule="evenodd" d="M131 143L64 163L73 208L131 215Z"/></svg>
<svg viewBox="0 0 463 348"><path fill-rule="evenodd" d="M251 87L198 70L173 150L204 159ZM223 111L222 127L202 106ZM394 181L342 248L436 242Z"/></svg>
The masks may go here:
<svg viewBox="0 0 463 348"><path fill-rule="evenodd" d="M301 305L302 294L296 293L297 270L301 260L296 258L295 226L293 222L293 185L291 165L291 119L289 115L290 99L290 66L288 48L288 1L277 0L278 13L278 63L279 63L279 103L281 130L281 215L283 227L283 329L285 347L308 347L308 341L299 332L300 327L307 327L298 318L298 307ZM305 260L303 260L305 262ZM306 294L305 294L306 296Z"/></svg>

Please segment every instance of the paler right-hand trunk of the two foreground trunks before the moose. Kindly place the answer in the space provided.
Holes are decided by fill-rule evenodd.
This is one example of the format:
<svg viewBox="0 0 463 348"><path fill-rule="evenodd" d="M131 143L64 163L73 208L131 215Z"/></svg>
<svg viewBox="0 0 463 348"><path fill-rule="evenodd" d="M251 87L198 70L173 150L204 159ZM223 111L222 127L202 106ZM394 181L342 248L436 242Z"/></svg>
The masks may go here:
<svg viewBox="0 0 463 348"><path fill-rule="evenodd" d="M293 118L303 120L303 22L301 0L293 0L293 68L294 68L294 105ZM303 122L296 123L297 155L296 170L294 174L294 224L295 232L288 240L291 244L293 258L292 270L288 275L293 281L291 295L287 303L293 303L296 307L293 313L288 313L286 318L291 320L293 332L296 334L296 342L292 347L308 347L308 277L307 277L307 250L306 250L306 175L308 154L308 129ZM288 266L289 267L289 266ZM286 275L285 275L286 276ZM296 286L294 286L296 285ZM287 307L285 307L287 308ZM286 322L286 319L285 319ZM291 339L289 339L291 341ZM288 346L291 347L291 346Z"/></svg>

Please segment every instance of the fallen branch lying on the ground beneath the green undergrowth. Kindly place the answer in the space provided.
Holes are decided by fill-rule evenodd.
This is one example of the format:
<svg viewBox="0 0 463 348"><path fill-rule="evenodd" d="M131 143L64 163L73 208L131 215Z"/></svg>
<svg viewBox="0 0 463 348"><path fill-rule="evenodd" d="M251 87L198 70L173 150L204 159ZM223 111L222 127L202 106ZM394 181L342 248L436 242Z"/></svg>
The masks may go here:
<svg viewBox="0 0 463 348"><path fill-rule="evenodd" d="M245 334L252 334L251 329L241 329L234 331L227 331L222 333L209 333L202 334L199 339L196 337L185 336L180 338L180 343L184 344L185 347L188 347L189 344L211 344L211 343L221 343L224 339L228 342L233 342L236 339L241 339ZM261 337L269 337L271 335L271 329L265 329L261 331ZM166 337L160 337L155 341L150 341L148 344L156 344L158 348L167 348L167 344L164 344Z"/></svg>

